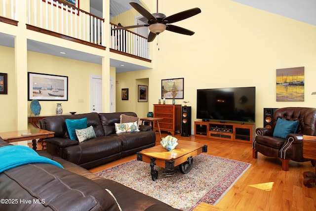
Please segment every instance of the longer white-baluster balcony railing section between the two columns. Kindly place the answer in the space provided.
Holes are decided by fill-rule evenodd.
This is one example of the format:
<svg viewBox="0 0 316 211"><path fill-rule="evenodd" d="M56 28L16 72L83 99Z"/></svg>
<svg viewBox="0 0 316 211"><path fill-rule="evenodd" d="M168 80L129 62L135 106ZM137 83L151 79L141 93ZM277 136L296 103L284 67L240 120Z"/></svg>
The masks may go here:
<svg viewBox="0 0 316 211"><path fill-rule="evenodd" d="M28 24L105 46L104 19L55 0L28 0Z"/></svg>

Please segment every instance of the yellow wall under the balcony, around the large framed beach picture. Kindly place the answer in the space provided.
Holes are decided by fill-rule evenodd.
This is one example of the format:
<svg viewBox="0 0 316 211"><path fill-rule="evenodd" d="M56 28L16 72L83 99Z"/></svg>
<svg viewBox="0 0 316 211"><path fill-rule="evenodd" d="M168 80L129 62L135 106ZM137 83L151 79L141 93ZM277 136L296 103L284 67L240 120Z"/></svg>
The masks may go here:
<svg viewBox="0 0 316 211"><path fill-rule="evenodd" d="M28 51L28 72L68 76L68 101L40 101L40 115L56 114L56 103L62 103L63 114L90 112L90 75L102 75L101 65L32 51Z"/></svg>

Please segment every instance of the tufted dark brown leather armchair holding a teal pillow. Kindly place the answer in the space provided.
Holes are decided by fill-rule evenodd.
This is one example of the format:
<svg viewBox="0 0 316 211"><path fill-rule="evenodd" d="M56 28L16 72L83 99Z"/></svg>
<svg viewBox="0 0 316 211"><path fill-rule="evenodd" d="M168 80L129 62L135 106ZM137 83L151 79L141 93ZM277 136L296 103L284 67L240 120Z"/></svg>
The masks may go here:
<svg viewBox="0 0 316 211"><path fill-rule="evenodd" d="M295 134L286 138L274 137L274 129L278 118L288 121L299 121ZM258 152L268 157L280 158L282 169L287 171L289 161L316 161L303 157L303 134L316 136L316 108L287 107L279 108L273 113L271 128L257 128L256 137L252 143L252 157L257 159Z"/></svg>

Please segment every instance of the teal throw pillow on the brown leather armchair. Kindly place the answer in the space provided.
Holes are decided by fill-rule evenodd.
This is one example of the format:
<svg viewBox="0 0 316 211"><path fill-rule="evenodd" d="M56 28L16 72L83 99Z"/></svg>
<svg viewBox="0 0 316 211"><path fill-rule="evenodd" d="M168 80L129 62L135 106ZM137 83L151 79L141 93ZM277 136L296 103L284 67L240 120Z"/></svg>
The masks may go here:
<svg viewBox="0 0 316 211"><path fill-rule="evenodd" d="M278 118L276 121L276 127L273 131L273 136L279 137L279 138L286 138L288 134L296 133L296 130L299 126L299 121L288 121L288 120L282 120L281 118Z"/></svg>

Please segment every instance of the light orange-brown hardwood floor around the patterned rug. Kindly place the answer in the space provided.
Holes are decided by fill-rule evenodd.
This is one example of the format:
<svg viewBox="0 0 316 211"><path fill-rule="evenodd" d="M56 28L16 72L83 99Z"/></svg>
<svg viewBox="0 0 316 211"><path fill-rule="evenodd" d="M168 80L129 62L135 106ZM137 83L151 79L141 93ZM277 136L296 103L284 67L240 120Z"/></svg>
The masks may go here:
<svg viewBox="0 0 316 211"><path fill-rule="evenodd" d="M161 134L162 137L166 135L168 134L163 132ZM181 140L206 144L208 155L251 164L215 207L201 205L195 211L316 211L316 186L307 188L303 184L303 172L315 172L310 162L290 161L289 170L283 171L277 158L258 153L258 159L253 159L251 144L206 139L194 135L184 137L178 133L174 136ZM156 140L156 144L159 144L158 132ZM94 173L133 159L136 159L136 154L89 170Z"/></svg>

